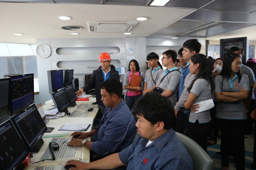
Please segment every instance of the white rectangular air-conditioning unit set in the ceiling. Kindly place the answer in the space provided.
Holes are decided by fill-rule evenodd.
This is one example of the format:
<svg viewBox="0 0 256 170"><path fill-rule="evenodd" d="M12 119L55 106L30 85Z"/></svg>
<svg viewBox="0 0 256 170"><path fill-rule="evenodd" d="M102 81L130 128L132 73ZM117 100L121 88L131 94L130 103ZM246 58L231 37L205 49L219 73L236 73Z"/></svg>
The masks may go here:
<svg viewBox="0 0 256 170"><path fill-rule="evenodd" d="M86 22L88 32L130 32L138 22Z"/></svg>

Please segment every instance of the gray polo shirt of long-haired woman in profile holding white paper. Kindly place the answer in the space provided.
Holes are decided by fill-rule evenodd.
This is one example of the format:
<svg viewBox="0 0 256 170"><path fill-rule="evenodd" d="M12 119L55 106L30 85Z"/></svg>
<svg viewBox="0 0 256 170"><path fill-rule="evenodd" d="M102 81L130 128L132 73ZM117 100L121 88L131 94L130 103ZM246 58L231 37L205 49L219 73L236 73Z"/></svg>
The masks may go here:
<svg viewBox="0 0 256 170"><path fill-rule="evenodd" d="M190 93L194 93L197 97L194 103L198 103L201 101L206 101L208 99L212 99L212 89L210 83L206 79L197 79ZM210 109L207 111L202 111L199 113L190 112L189 121L195 123L198 120L199 123L207 123L211 121Z"/></svg>

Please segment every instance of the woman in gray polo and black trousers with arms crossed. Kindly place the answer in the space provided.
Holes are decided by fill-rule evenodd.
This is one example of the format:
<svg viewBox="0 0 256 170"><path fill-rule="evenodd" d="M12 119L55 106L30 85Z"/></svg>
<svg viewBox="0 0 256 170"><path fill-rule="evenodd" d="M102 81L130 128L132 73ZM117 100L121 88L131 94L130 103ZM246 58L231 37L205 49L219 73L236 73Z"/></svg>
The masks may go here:
<svg viewBox="0 0 256 170"><path fill-rule="evenodd" d="M220 75L214 79L214 95L218 100L216 117L219 119L222 170L228 169L228 154L234 153L237 170L244 170L244 132L246 110L243 99L250 92L249 79L241 74L241 57L236 53L227 55ZM230 148L231 147L231 148Z"/></svg>

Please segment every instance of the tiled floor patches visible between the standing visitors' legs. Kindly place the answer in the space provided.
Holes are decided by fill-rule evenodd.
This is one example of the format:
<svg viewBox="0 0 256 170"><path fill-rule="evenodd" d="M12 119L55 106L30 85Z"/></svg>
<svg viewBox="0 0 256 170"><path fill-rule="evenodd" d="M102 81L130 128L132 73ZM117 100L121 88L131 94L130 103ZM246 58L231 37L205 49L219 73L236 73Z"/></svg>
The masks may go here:
<svg viewBox="0 0 256 170"><path fill-rule="evenodd" d="M217 156L215 153L220 152L220 142L221 140L217 139L217 144L214 144L212 146L208 146L208 154L214 161L214 170L220 170L221 169L221 160L220 157ZM250 138L244 138L244 144L245 144L245 169L251 170L251 164L253 163L253 142L254 142L254 134L250 136ZM235 164L234 164L234 158L229 158L229 170L236 170Z"/></svg>

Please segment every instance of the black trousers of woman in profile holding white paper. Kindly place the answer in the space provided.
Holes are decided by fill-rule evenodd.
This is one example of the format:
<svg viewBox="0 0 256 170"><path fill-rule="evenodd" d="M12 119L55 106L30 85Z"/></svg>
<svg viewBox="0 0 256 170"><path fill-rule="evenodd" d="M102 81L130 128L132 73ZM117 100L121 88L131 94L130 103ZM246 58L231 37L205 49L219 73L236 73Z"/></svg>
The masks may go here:
<svg viewBox="0 0 256 170"><path fill-rule="evenodd" d="M188 124L188 137L199 144L207 153L207 136L211 123L195 123L189 122Z"/></svg>

